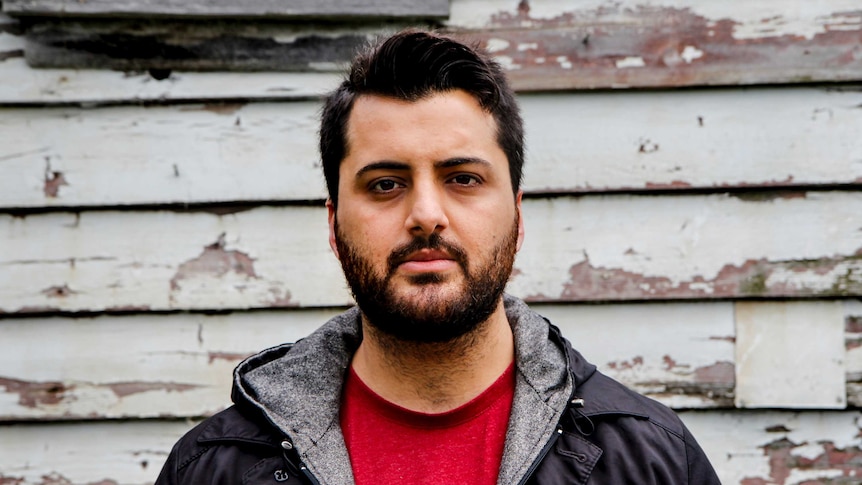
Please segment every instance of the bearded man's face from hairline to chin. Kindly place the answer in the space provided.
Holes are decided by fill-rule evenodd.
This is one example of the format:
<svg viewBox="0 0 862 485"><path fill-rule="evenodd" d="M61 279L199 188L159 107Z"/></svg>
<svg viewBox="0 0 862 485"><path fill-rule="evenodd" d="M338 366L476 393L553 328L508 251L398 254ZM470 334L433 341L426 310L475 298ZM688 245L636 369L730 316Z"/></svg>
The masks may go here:
<svg viewBox="0 0 862 485"><path fill-rule="evenodd" d="M497 308L523 224L496 138L463 91L356 100L338 207L327 206L330 245L371 325L442 342Z"/></svg>

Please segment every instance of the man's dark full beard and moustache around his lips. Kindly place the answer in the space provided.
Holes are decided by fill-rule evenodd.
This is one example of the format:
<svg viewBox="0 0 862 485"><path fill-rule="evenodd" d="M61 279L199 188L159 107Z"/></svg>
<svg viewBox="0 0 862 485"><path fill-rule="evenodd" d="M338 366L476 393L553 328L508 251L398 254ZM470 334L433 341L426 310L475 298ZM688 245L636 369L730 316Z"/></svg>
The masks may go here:
<svg viewBox="0 0 862 485"><path fill-rule="evenodd" d="M512 273L518 246L518 214L511 230L474 266L459 245L439 234L416 237L387 258L386 274L375 273L367 258L335 223L336 247L353 298L369 325L396 340L412 343L451 342L479 329L497 309ZM408 278L412 288L399 295L393 284L398 266L422 249L446 251L461 269L460 288L444 288L457 276L423 273Z"/></svg>

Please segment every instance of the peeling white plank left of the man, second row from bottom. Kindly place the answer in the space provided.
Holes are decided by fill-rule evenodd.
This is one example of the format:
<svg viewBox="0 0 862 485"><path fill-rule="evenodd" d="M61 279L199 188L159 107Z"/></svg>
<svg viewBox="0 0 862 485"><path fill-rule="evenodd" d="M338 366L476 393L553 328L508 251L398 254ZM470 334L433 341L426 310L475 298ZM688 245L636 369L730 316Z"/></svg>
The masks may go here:
<svg viewBox="0 0 862 485"><path fill-rule="evenodd" d="M0 325L0 420L194 417L230 405L245 357L336 310L45 318Z"/></svg>

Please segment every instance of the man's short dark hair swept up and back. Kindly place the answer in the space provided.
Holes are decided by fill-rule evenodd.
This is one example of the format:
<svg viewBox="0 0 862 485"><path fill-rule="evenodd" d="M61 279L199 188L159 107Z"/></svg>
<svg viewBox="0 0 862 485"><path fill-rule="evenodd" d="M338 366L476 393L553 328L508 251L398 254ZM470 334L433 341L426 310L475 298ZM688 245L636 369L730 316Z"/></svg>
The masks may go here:
<svg viewBox="0 0 862 485"><path fill-rule="evenodd" d="M461 89L494 117L497 143L509 161L512 190L518 193L524 165L524 128L515 94L490 55L441 34L406 30L357 55L347 79L324 102L320 156L329 198L338 203L338 172L347 156L347 120L363 94L418 101Z"/></svg>

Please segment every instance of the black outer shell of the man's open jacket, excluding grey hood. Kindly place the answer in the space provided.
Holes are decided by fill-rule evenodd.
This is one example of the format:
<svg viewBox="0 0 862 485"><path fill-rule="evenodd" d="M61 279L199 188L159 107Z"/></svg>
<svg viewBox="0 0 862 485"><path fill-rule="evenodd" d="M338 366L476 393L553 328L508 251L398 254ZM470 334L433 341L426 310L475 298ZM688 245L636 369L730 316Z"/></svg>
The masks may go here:
<svg viewBox="0 0 862 485"><path fill-rule="evenodd" d="M507 300L507 307L509 303ZM566 380L571 383L565 388L568 404L555 417L556 425L544 438L544 446L535 447L532 456L520 457L526 461L518 483L720 483L703 451L673 411L598 372L556 327L544 325L546 338L563 351ZM291 437L300 430L284 422L275 424L280 418L273 418L273 413L261 405L265 398L250 393L249 383L243 379L250 369L284 359L291 352L296 351L285 345L241 364L233 392L235 405L184 436L171 451L156 484L323 482L305 466L309 455L298 452ZM515 412L513 405L513 415ZM325 469L318 466L318 474ZM327 483L331 482L335 480Z"/></svg>

